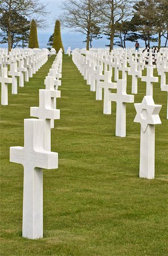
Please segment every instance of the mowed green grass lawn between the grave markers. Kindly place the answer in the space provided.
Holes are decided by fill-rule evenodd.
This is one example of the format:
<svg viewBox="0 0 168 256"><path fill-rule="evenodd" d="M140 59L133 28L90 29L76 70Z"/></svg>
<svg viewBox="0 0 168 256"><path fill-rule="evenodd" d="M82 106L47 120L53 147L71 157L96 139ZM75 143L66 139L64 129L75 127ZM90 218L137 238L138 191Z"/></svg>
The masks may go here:
<svg viewBox="0 0 168 256"><path fill-rule="evenodd" d="M102 101L63 56L61 119L51 131L58 170L44 170L44 238L21 237L23 166L9 162L9 147L23 146L23 119L38 106L38 89L55 56L1 106L1 255L168 255L167 93L154 84L162 104L156 126L156 178L139 178L140 124L127 104L127 137L115 137L115 108L102 114ZM156 74L156 73L155 73ZM9 88L11 90L11 88ZM115 91L115 90L114 90ZM127 93L131 92L128 76ZM139 80L141 102L145 83Z"/></svg>

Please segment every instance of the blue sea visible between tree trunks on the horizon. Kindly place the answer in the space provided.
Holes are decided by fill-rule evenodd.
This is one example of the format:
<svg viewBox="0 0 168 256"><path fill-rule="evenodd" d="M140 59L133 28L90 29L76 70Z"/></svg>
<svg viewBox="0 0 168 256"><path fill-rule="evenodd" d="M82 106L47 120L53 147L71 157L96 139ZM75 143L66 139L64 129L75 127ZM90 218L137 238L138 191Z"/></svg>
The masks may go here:
<svg viewBox="0 0 168 256"><path fill-rule="evenodd" d="M40 48L47 48L49 37L51 32L38 32L38 43ZM85 36L79 34L79 32L62 32L62 42L65 51L70 46L71 49L74 48L85 48L86 43ZM143 40L138 40L140 47L145 47L145 42ZM164 42L162 42L164 44ZM103 36L102 39L93 40L92 47L95 48L104 48L109 44L109 40L106 39L106 36ZM154 43L151 44L153 46ZM1 44L0 47L7 47L7 44ZM126 47L135 47L135 42L126 42Z"/></svg>

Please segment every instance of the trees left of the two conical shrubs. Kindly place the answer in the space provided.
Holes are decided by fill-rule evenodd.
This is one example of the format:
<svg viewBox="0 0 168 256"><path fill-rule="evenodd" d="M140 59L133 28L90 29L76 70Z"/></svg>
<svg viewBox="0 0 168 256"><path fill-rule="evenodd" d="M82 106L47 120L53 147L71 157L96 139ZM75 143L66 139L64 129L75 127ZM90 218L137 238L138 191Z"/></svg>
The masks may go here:
<svg viewBox="0 0 168 256"><path fill-rule="evenodd" d="M36 17L38 27L45 26L46 5L40 0L0 0L1 43L8 43L8 51L25 47L29 40L31 19Z"/></svg>

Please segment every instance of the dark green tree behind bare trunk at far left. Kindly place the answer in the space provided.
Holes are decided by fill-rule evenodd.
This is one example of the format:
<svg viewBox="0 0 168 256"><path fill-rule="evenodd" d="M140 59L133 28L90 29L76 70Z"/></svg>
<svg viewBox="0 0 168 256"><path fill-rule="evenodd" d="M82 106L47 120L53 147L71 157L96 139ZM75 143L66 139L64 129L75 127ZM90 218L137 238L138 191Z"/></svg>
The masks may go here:
<svg viewBox="0 0 168 256"><path fill-rule="evenodd" d="M0 17L1 31L2 31L2 42L7 43L7 14L4 13ZM12 22L12 30L11 30L11 47L15 48L16 46L20 46L19 42L21 41L21 46L24 47L25 44L28 43L28 34L29 34L29 20L24 16L16 13L16 11L12 12L11 15Z"/></svg>

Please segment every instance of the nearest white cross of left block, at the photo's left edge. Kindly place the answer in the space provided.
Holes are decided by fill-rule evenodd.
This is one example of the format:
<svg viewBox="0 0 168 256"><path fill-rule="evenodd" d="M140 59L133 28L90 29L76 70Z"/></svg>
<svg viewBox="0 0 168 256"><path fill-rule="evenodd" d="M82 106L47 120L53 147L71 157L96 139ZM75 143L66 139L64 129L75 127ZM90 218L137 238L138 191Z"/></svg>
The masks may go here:
<svg viewBox="0 0 168 256"><path fill-rule="evenodd" d="M11 77L7 77L7 68L1 68L1 105L8 105L8 84L11 84Z"/></svg>

